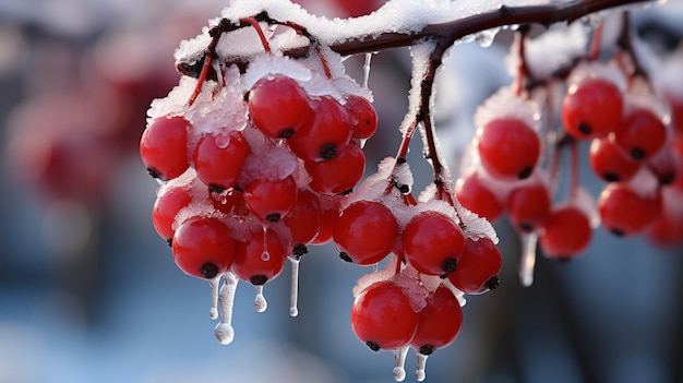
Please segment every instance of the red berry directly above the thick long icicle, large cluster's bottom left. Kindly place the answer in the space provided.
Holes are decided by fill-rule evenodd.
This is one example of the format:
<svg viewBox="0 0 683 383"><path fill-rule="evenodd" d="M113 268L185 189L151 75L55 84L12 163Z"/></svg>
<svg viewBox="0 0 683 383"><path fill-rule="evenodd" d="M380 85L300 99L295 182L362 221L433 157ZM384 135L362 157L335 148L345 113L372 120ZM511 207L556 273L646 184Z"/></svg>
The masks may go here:
<svg viewBox="0 0 683 383"><path fill-rule="evenodd" d="M216 218L185 220L172 241L176 264L185 274L212 279L225 273L235 256L235 243L228 227Z"/></svg>

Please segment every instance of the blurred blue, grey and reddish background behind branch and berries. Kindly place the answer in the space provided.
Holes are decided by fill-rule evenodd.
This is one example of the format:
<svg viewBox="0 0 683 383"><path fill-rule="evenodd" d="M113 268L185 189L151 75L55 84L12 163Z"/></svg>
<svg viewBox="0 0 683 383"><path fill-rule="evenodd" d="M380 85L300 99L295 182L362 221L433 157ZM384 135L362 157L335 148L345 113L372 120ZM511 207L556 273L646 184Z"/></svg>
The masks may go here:
<svg viewBox="0 0 683 383"><path fill-rule="evenodd" d="M137 153L145 111L178 82L180 40L226 1L0 0L0 383L392 381L393 356L370 351L349 324L351 287L371 270L342 262L333 247L312 249L296 319L289 268L266 286L265 313L240 285L236 338L221 346L207 284L182 274L154 231L157 184ZM381 2L301 1L327 16ZM681 5L637 12L635 27L658 56L680 46ZM453 109L436 117L454 166L475 108L511 82L511 40L458 45L445 64L438 105ZM347 64L362 80L363 58ZM396 152L408 79L406 49L373 58L381 128L367 146L369 172ZM426 184L414 141L416 184ZM589 171L582 183L601 188ZM598 229L568 264L539 256L525 288L518 239L504 219L495 227L501 287L469 297L458 339L429 359L429 382L683 382L680 243ZM410 352L407 381L415 368Z"/></svg>

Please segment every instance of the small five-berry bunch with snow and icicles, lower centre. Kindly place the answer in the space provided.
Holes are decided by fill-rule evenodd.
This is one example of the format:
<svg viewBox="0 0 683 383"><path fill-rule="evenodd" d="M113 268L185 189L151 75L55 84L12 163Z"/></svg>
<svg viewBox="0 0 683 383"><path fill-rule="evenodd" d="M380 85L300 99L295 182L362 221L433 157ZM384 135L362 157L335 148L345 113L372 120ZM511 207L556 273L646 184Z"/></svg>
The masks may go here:
<svg viewBox="0 0 683 383"><path fill-rule="evenodd" d="M383 271L355 287L351 326L370 349L396 355L397 381L405 378L406 352L415 349L422 381L427 357L460 330L463 296L496 288L502 259L489 223L440 199L438 185L416 201L407 167L386 158L347 195L333 239L347 262L375 265L391 255Z"/></svg>

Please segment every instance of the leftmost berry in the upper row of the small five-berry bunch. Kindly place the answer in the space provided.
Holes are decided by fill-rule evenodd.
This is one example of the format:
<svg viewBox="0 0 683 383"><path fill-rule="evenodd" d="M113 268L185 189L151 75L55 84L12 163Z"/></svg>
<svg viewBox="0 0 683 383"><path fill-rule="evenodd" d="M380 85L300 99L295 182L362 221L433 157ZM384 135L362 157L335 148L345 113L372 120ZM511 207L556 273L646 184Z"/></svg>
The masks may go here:
<svg viewBox="0 0 683 383"><path fill-rule="evenodd" d="M392 211L376 201L358 201L342 211L334 227L334 241L343 256L360 264L382 261L398 237ZM345 255L344 255L345 254Z"/></svg>

